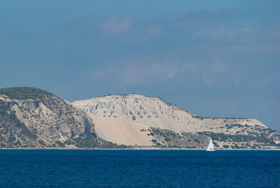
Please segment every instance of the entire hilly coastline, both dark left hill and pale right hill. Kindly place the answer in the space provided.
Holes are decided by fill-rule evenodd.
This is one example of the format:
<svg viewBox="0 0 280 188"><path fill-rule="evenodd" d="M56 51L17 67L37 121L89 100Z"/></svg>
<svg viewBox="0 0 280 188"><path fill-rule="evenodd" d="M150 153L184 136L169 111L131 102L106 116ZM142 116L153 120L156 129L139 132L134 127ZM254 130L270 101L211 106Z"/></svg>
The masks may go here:
<svg viewBox="0 0 280 188"><path fill-rule="evenodd" d="M145 95L67 102L31 87L0 88L0 148L279 149L257 119L203 118Z"/></svg>

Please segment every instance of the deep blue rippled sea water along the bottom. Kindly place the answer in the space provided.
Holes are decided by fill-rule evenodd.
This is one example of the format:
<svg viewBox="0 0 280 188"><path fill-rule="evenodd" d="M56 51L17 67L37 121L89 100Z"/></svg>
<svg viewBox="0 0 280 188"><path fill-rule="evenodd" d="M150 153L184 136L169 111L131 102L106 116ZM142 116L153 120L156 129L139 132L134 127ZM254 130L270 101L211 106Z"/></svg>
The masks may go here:
<svg viewBox="0 0 280 188"><path fill-rule="evenodd" d="M0 187L280 187L280 151L0 150Z"/></svg>

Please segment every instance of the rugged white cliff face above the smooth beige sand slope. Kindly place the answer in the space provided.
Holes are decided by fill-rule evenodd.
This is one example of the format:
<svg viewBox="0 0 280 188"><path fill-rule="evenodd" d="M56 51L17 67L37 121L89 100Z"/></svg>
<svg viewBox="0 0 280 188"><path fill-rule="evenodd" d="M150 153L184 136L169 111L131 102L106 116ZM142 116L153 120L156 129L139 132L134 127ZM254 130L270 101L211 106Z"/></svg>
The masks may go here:
<svg viewBox="0 0 280 188"><path fill-rule="evenodd" d="M227 124L259 125L266 128L257 119L200 119L169 102L162 101L160 98L143 95L109 95L89 100L78 100L72 104L90 116L125 118L147 126L178 132L212 131L235 134L238 128L228 130Z"/></svg>

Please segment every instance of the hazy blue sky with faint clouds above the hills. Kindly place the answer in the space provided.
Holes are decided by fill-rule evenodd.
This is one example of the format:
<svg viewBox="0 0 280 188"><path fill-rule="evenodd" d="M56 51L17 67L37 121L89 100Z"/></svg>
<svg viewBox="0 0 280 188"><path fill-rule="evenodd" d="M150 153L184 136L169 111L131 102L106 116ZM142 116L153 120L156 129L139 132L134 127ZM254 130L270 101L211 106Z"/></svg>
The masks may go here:
<svg viewBox="0 0 280 188"><path fill-rule="evenodd" d="M280 1L1 1L0 88L158 96L280 130Z"/></svg>

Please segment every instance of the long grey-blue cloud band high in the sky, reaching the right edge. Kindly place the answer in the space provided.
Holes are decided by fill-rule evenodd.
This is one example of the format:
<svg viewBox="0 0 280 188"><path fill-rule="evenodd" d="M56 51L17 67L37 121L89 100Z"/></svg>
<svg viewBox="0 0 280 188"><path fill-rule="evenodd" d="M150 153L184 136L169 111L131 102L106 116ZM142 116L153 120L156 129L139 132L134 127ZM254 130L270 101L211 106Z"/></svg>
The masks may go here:
<svg viewBox="0 0 280 188"><path fill-rule="evenodd" d="M76 34L76 38L111 40L121 37L125 42L137 43L153 40L176 43L239 43L255 44L255 39L267 44L275 43L271 38L280 38L279 24L255 23L255 19L264 17L264 12L244 11L235 8L219 11L190 11L156 20L143 20L122 15L111 15L107 19L98 19L87 15L61 25L64 30Z"/></svg>

